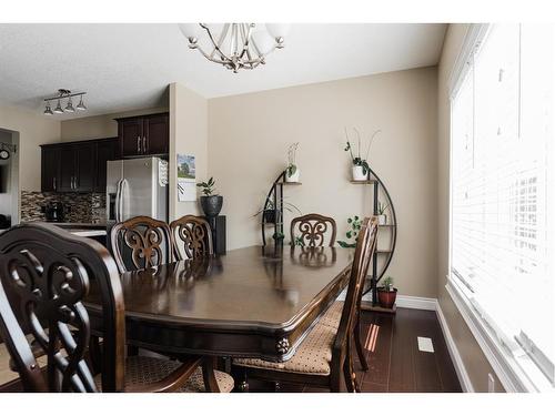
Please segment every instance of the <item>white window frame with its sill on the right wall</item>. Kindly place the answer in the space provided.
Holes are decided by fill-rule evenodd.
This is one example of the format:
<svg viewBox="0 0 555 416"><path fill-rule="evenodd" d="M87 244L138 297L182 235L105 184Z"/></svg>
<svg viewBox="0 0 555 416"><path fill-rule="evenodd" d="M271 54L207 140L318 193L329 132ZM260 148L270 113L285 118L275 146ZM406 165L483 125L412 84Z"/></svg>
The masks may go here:
<svg viewBox="0 0 555 416"><path fill-rule="evenodd" d="M448 114L450 114L450 180L448 180L448 272L445 288L457 307L471 333L476 338L484 355L497 375L506 392L544 392L552 390L553 385L541 369L533 363L526 352L518 347L509 353L496 336L496 331L471 301L471 291L465 286L452 267L453 257L453 101L468 72L472 53L480 48L492 24L471 24L465 34L463 45L448 78Z"/></svg>

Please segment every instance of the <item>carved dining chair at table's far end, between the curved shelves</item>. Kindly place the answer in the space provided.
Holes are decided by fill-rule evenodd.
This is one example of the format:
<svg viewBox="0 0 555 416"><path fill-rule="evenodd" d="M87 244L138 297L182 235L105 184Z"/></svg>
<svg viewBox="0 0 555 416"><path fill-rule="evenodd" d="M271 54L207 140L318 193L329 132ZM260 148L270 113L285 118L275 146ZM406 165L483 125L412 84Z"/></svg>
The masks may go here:
<svg viewBox="0 0 555 416"><path fill-rule="evenodd" d="M329 230L331 235L327 245L332 247L335 244L335 234L337 233L334 219L314 213L296 216L291 220L291 245L322 246L325 244ZM299 235L295 234L296 231Z"/></svg>

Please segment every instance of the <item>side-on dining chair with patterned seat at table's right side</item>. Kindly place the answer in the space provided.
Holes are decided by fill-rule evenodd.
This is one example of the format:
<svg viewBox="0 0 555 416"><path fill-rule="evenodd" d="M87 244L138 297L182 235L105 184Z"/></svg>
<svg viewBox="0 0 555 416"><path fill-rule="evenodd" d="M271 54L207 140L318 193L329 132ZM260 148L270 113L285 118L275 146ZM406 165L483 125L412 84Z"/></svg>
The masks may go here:
<svg viewBox="0 0 555 416"><path fill-rule="evenodd" d="M315 325L296 348L293 357L283 363L259 358L235 358L235 374L269 382L285 382L326 387L340 392L341 375L349 392L359 392L351 354L356 331L359 298L364 290L369 265L376 247L377 219L364 219L359 234L346 298L337 327Z"/></svg>

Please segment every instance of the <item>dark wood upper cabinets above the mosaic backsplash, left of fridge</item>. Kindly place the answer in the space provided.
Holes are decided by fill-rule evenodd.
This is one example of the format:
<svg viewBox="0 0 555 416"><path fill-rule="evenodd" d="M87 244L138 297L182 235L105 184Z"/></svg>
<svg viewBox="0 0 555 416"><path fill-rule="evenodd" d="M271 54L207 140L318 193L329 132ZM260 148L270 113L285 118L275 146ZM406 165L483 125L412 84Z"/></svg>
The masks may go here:
<svg viewBox="0 0 555 416"><path fill-rule="evenodd" d="M104 192L119 145L118 138L42 145L42 192Z"/></svg>

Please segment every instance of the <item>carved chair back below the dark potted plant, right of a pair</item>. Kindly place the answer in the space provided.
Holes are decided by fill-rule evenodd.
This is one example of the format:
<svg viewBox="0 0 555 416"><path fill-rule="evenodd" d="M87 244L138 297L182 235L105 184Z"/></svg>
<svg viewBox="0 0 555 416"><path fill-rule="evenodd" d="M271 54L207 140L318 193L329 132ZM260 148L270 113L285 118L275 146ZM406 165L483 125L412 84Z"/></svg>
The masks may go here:
<svg viewBox="0 0 555 416"><path fill-rule="evenodd" d="M172 221L173 254L178 260L196 258L214 254L212 230L201 216L185 215Z"/></svg>

